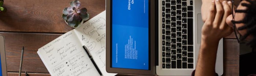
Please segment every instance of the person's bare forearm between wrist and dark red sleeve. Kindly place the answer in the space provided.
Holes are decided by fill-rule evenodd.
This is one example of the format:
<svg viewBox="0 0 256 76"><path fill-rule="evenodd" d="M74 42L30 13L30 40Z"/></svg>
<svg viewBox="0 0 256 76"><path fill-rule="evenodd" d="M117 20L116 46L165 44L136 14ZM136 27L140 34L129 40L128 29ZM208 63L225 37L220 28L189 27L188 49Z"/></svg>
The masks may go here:
<svg viewBox="0 0 256 76"><path fill-rule="evenodd" d="M203 40L198 55L195 76L215 76L218 41Z"/></svg>

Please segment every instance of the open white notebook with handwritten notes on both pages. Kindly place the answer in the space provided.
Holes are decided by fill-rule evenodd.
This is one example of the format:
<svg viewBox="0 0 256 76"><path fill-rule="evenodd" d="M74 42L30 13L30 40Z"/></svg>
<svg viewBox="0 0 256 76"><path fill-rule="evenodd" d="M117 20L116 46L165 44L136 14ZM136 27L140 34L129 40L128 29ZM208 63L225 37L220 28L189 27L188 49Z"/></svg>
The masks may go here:
<svg viewBox="0 0 256 76"><path fill-rule="evenodd" d="M103 76L116 75L106 72L106 11L39 48L37 53L52 76L100 76L83 45Z"/></svg>

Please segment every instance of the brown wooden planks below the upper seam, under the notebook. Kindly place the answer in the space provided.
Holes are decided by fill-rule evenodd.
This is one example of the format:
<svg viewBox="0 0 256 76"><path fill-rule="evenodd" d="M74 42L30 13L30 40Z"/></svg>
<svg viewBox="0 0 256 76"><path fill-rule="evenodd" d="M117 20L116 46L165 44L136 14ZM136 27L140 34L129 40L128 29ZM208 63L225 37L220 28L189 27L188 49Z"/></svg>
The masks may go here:
<svg viewBox="0 0 256 76"><path fill-rule="evenodd" d="M38 48L54 40L61 34L44 33L12 33L0 32L6 39L6 59L8 72L18 72L22 46L25 46L22 71L38 73L40 76L48 76L49 73L36 53ZM224 41L224 74L238 75L239 73L239 44L236 40L225 39ZM33 74L30 76L38 76ZM11 73L16 76L16 73ZM117 76L126 76L119 74ZM132 75L128 75L132 76Z"/></svg>

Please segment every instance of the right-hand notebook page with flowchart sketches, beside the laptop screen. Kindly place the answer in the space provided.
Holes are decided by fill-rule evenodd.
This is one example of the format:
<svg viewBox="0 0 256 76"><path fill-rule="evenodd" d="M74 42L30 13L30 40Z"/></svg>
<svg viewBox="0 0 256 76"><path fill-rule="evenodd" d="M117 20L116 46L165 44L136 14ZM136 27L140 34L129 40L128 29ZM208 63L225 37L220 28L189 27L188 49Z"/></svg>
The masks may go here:
<svg viewBox="0 0 256 76"><path fill-rule="evenodd" d="M103 76L114 76L106 71L106 11L74 29L78 40L88 48Z"/></svg>

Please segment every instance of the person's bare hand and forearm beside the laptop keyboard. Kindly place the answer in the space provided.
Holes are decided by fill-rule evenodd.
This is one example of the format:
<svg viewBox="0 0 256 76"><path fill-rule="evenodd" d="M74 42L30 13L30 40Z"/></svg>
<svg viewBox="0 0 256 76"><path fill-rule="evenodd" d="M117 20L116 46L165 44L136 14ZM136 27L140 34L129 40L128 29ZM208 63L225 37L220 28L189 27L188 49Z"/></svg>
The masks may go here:
<svg viewBox="0 0 256 76"><path fill-rule="evenodd" d="M209 5L208 5L209 6ZM210 2L210 8L202 27L201 46L195 76L215 76L215 62L219 40L233 32L226 24L231 14L231 2L218 0ZM216 14L215 14L216 13Z"/></svg>

